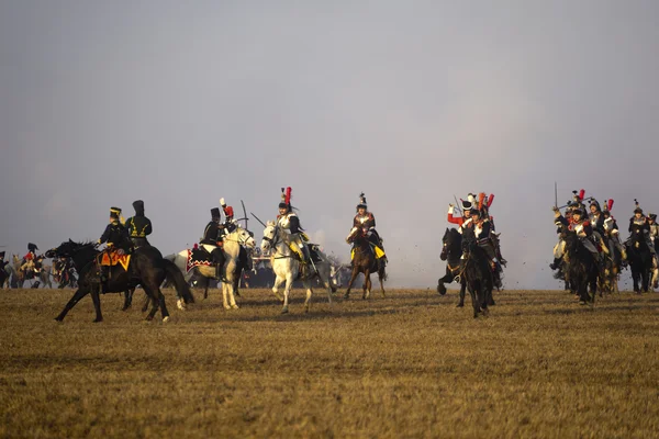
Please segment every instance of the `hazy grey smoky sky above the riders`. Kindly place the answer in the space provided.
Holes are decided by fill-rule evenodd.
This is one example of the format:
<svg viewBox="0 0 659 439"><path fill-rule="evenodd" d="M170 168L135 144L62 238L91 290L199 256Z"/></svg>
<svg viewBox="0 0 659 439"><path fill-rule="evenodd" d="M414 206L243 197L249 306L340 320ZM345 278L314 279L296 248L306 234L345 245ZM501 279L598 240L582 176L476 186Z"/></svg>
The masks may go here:
<svg viewBox="0 0 659 439"><path fill-rule="evenodd" d="M347 260L364 191L389 285L435 288L448 203L483 191L505 286L558 288L555 181L623 235L659 211L657 54L651 0L0 0L0 245L97 239L142 199L166 255L290 185Z"/></svg>

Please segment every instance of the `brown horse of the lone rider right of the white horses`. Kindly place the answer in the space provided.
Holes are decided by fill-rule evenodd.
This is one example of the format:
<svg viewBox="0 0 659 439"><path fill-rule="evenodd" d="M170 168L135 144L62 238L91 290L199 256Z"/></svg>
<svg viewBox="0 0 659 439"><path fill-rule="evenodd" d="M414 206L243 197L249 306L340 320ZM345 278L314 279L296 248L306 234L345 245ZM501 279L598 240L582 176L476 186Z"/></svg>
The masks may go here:
<svg viewBox="0 0 659 439"><path fill-rule="evenodd" d="M384 281L387 280L387 272L383 264L378 267L378 260L376 259L373 245L369 241L368 236L364 233L364 229L361 227L353 227L346 237L346 243L353 245L354 259L353 273L350 275L350 281L348 282L348 289L344 294L344 299L348 299L350 296L350 289L353 288L353 283L355 283L355 279L359 275L359 273L364 273L364 284L361 286L364 293L361 294L361 299L368 299L370 296L370 273L378 273L378 279L380 280L380 291L382 292L382 297L384 297Z"/></svg>

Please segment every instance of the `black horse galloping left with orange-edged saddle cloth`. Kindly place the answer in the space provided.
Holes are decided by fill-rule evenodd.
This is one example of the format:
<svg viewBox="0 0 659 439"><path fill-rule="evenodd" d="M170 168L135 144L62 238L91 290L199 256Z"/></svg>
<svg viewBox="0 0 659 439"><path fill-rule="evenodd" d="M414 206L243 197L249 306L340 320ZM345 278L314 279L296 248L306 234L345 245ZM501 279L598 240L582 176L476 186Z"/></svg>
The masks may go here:
<svg viewBox="0 0 659 439"><path fill-rule="evenodd" d="M102 322L101 301L100 301L100 273L97 264L97 257L100 251L96 245L91 243L74 243L68 240L59 247L51 249L46 252L49 258L53 257L70 257L78 272L78 290L68 301L62 313L55 318L62 322L66 314L87 294L91 294L93 307L96 309L94 322ZM165 296L160 291L160 284L168 278L176 285L177 293L183 297L186 303L194 302L194 297L187 285L183 275L179 269L172 263L163 259L163 255L155 247L141 247L131 256L131 261L127 270L121 266L111 267L108 280L108 291L123 293L129 289L141 284L153 303L152 311L146 319L152 320L160 307L163 322L169 319L169 313L165 305Z"/></svg>

